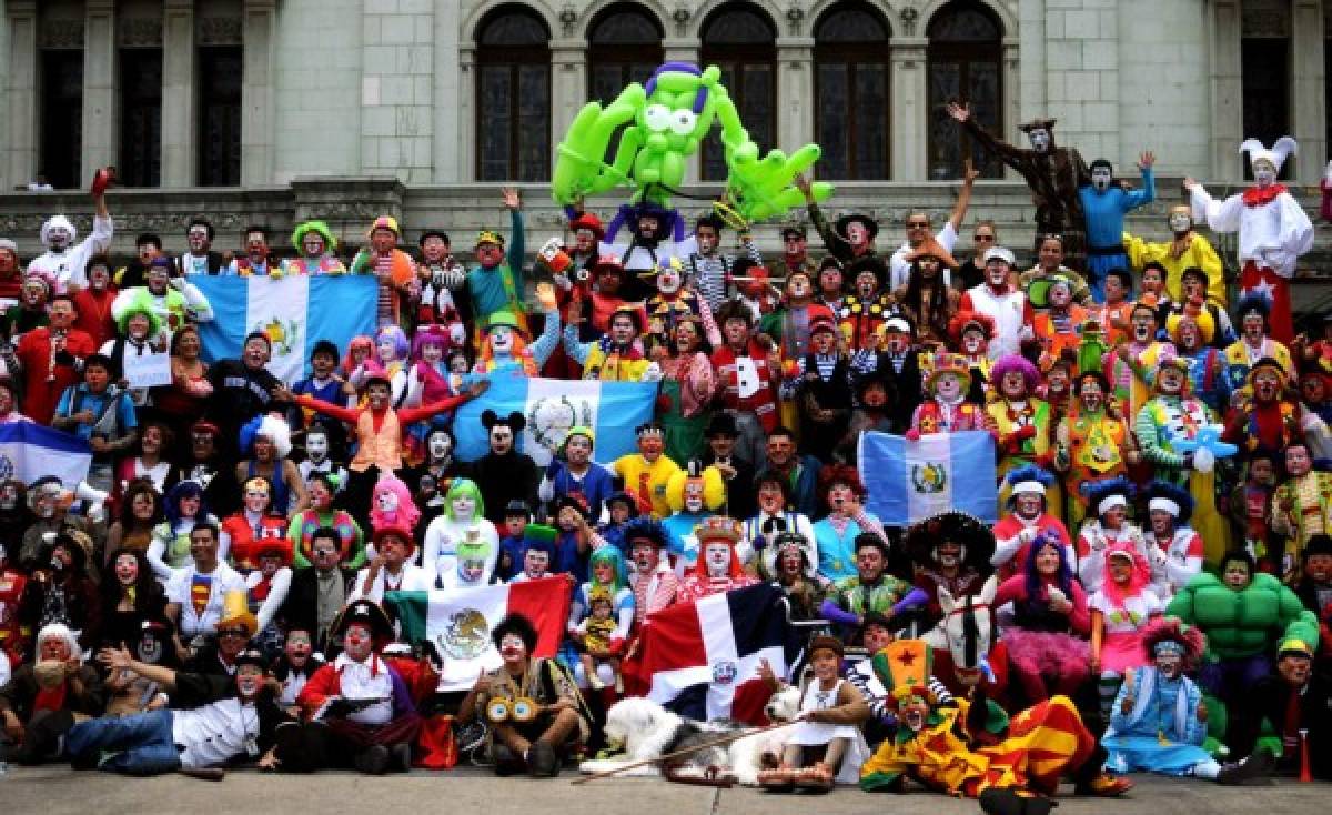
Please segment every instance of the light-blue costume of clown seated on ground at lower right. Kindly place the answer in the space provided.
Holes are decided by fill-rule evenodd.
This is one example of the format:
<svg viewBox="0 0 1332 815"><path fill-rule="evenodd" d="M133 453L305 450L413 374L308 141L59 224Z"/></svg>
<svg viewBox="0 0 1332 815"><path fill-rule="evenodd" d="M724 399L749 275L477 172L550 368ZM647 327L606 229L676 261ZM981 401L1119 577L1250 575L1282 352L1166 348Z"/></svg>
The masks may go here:
<svg viewBox="0 0 1332 815"><path fill-rule="evenodd" d="M1146 770L1166 775L1216 778L1220 766L1203 750L1207 723L1197 720L1203 691L1188 677L1162 677L1155 667L1132 670L1115 698L1110 730L1100 743L1110 752L1106 767L1116 772ZM1135 704L1123 711L1124 699Z"/></svg>

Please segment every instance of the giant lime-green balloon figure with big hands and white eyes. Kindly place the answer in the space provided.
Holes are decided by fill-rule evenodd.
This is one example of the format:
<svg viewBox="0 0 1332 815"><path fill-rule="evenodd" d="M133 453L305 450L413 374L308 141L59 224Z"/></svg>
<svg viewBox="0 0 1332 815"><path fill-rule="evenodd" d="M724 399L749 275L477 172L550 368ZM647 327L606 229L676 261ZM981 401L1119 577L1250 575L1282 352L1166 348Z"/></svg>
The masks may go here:
<svg viewBox="0 0 1332 815"><path fill-rule="evenodd" d="M793 181L818 161L819 146L807 144L790 156L771 149L761 157L721 76L715 65L699 71L687 63L666 63L647 80L646 89L633 83L605 108L597 101L583 105L559 142L550 180L555 201L573 204L629 186L634 190L630 202L669 208L671 193L685 180L686 160L698 152L717 121L730 170L729 206L750 222L803 206L805 194ZM607 164L611 138L621 127L619 148ZM815 182L811 192L815 201L825 201L832 185Z"/></svg>

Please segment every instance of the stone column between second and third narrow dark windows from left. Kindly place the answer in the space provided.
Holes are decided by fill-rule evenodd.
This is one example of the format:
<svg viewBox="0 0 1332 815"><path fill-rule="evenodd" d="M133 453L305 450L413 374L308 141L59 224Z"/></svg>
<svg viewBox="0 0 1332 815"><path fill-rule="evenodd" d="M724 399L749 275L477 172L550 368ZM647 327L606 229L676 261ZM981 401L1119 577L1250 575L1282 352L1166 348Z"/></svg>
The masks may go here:
<svg viewBox="0 0 1332 815"><path fill-rule="evenodd" d="M194 0L166 0L163 5L163 186L194 184L198 164L194 65Z"/></svg>

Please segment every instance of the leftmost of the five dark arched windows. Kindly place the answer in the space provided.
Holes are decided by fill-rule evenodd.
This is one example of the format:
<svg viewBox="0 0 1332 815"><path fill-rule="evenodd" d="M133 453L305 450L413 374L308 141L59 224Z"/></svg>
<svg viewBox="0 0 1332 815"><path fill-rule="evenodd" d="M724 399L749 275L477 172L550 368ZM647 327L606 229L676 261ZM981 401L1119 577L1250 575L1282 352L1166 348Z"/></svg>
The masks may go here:
<svg viewBox="0 0 1332 815"><path fill-rule="evenodd" d="M550 31L501 5L477 27L477 180L550 178Z"/></svg>

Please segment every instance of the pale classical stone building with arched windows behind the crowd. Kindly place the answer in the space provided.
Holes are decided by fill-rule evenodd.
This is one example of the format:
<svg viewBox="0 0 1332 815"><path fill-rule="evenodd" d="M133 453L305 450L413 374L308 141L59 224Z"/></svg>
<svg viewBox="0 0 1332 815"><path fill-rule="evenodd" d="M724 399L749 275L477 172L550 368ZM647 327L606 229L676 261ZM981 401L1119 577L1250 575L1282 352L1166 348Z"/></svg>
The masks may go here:
<svg viewBox="0 0 1332 815"><path fill-rule="evenodd" d="M561 135L663 60L717 64L763 146L823 146L838 206L946 212L971 145L1048 115L1056 138L1131 173L1154 149L1166 198L1184 174L1237 184L1245 136L1327 160L1332 0L0 0L0 188L80 188L115 164L129 228L190 209L224 234L328 216L357 238L376 209L460 232L494 222L500 182L537 192ZM715 137L690 177L717 192ZM1026 190L978 154L976 212L1030 236ZM79 209L77 198L69 198ZM0 198L31 245L44 198ZM1140 216L1160 232L1160 209ZM32 229L29 229L32 228ZM1023 230L1026 230L1023 233ZM177 233L178 236L178 233Z"/></svg>

